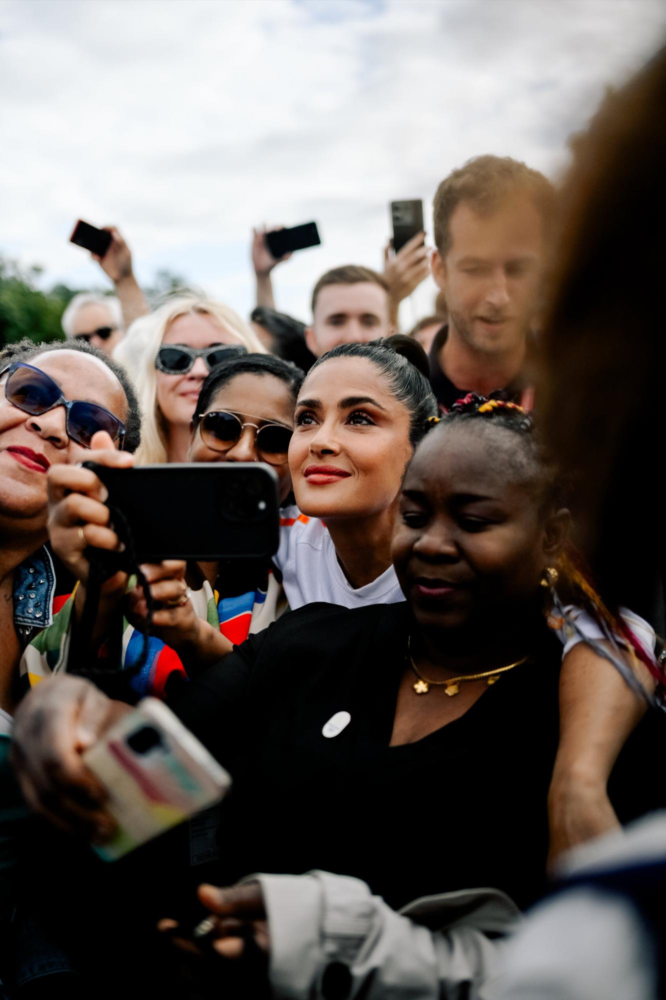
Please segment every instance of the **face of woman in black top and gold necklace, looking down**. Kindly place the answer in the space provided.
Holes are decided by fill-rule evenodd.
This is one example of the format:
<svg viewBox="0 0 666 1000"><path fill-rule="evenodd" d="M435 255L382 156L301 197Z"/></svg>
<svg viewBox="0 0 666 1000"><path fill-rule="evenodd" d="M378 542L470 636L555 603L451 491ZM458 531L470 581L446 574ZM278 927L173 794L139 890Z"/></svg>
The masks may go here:
<svg viewBox="0 0 666 1000"><path fill-rule="evenodd" d="M512 472L516 447L511 431L460 425L437 429L419 446L403 483L391 556L422 626L487 634L538 598L544 568L563 544L567 512L542 514L535 482Z"/></svg>

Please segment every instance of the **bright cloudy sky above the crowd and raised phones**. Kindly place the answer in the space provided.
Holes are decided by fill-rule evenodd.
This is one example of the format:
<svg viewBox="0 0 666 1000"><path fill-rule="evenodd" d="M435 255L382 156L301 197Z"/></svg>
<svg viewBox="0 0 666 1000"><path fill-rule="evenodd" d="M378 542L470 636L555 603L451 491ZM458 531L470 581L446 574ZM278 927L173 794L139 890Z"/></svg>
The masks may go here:
<svg viewBox="0 0 666 1000"><path fill-rule="evenodd" d="M253 305L249 230L316 219L274 272L309 318L329 267L379 267L388 202L479 153L556 178L604 88L666 36L662 0L0 0L0 254L101 285L68 244L115 223L140 281ZM403 322L430 311L428 281Z"/></svg>

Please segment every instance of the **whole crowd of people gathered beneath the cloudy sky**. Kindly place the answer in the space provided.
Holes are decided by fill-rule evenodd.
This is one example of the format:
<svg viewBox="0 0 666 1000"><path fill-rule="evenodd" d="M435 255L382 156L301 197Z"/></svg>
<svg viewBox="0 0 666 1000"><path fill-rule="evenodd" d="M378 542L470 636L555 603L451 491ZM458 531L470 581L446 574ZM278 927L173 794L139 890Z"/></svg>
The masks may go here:
<svg viewBox="0 0 666 1000"><path fill-rule="evenodd" d="M276 309L289 255L263 228L246 321L149 304L109 227L115 295L2 351L3 1000L662 995L664 561L639 477L665 85L662 51L558 188L458 167L434 247L328 271L308 323ZM100 582L124 536L90 458L265 463L277 550ZM232 791L104 863L84 754L146 696Z"/></svg>

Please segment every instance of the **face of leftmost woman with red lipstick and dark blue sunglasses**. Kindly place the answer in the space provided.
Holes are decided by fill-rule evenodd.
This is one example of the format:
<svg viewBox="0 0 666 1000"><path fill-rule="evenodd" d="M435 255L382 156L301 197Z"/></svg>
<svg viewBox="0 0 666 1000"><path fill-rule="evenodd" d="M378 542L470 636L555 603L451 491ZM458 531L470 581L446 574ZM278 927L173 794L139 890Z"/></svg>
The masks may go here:
<svg viewBox="0 0 666 1000"><path fill-rule="evenodd" d="M46 372L68 400L97 403L120 420L127 420L127 400L111 369L82 351L49 351L28 364ZM90 450L71 441L65 430L65 407L31 416L5 397L0 381L0 517L46 523L46 472L56 463L73 464L90 458Z"/></svg>

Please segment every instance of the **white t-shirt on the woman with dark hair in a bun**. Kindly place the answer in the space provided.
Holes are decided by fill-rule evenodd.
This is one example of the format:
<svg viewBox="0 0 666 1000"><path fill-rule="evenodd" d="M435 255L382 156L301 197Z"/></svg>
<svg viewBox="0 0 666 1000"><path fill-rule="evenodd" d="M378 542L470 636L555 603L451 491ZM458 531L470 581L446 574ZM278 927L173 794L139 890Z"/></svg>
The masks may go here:
<svg viewBox="0 0 666 1000"><path fill-rule="evenodd" d="M404 601L393 566L365 587L354 590L338 562L328 528L318 517L306 517L297 507L285 507L280 517L280 547L273 562L292 611L326 601L343 608Z"/></svg>

